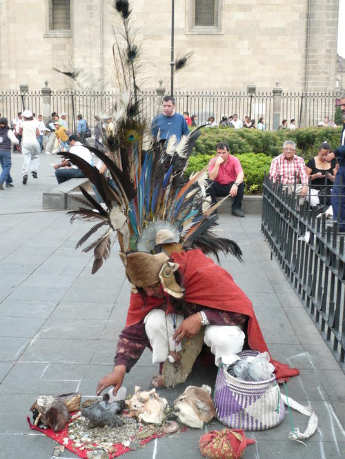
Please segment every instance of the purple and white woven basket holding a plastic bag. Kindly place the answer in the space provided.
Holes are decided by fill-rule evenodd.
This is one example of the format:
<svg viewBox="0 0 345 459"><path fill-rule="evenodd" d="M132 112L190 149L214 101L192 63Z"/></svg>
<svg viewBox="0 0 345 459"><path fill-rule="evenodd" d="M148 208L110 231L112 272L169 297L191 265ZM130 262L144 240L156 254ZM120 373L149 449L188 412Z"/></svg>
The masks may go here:
<svg viewBox="0 0 345 459"><path fill-rule="evenodd" d="M245 358L257 354L248 350L238 355ZM275 376L265 381L244 381L228 374L225 366L218 369L214 403L218 420L232 429L270 429L282 422L285 414Z"/></svg>

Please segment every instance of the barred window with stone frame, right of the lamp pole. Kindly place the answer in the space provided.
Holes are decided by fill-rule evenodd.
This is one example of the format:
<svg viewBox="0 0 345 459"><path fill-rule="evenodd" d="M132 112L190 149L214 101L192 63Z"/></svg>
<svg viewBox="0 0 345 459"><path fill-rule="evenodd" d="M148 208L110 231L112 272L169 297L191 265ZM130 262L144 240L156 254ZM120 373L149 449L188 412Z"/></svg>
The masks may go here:
<svg viewBox="0 0 345 459"><path fill-rule="evenodd" d="M219 33L222 0L189 0L188 32Z"/></svg>

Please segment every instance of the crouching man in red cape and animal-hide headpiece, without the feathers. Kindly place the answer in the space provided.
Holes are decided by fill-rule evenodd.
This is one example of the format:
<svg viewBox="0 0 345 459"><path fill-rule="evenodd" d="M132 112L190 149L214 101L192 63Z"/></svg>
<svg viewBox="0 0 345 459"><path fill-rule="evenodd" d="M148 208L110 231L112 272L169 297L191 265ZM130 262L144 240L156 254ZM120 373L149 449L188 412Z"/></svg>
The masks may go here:
<svg viewBox="0 0 345 459"><path fill-rule="evenodd" d="M117 343L115 367L99 381L97 395L108 386L114 386L116 394L146 347L152 349L152 363L159 364L159 374L151 384L163 387L166 359L177 363L181 340L193 340L201 328L218 366L222 355L237 354L244 346L268 351L252 303L225 269L201 249L186 251L179 243L163 243L161 248L164 251L155 255L120 253L135 288ZM194 360L196 357L193 354ZM297 369L271 361L277 379L299 374Z"/></svg>

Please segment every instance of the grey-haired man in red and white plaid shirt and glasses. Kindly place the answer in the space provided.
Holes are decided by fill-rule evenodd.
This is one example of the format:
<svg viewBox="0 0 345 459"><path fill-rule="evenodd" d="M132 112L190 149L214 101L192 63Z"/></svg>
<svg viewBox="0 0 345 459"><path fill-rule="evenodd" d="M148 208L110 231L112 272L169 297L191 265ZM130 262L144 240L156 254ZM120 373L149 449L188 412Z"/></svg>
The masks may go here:
<svg viewBox="0 0 345 459"><path fill-rule="evenodd" d="M295 189L296 194L301 196L300 203L303 203L308 193L308 175L306 174L306 163L304 159L295 154L296 144L293 141L283 143L283 153L273 159L270 165L270 179L279 182L288 188L292 193ZM301 181L300 185L297 183Z"/></svg>

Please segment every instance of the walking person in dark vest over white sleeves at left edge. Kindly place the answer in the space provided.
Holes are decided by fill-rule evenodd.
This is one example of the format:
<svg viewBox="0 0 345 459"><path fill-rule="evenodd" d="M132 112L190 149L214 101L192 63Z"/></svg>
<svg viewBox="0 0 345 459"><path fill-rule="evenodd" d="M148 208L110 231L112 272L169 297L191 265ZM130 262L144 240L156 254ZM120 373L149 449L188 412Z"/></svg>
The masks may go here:
<svg viewBox="0 0 345 459"><path fill-rule="evenodd" d="M0 190L3 190L3 184L6 183L6 187L13 187L12 177L10 176L11 170L11 143L14 145L19 144L19 139L14 135L14 132L8 127L8 119L0 118Z"/></svg>

